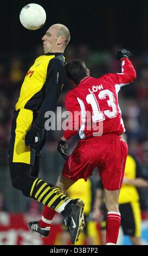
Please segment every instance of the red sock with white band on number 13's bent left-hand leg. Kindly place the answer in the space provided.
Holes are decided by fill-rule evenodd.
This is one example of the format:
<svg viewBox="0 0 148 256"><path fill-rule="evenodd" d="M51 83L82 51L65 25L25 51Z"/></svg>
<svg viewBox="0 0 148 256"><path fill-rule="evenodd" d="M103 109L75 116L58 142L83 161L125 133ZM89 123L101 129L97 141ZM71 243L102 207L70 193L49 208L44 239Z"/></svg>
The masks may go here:
<svg viewBox="0 0 148 256"><path fill-rule="evenodd" d="M39 221L39 225L41 228L50 227L53 217L56 211L49 208L47 205L44 206L43 215L41 220Z"/></svg>

